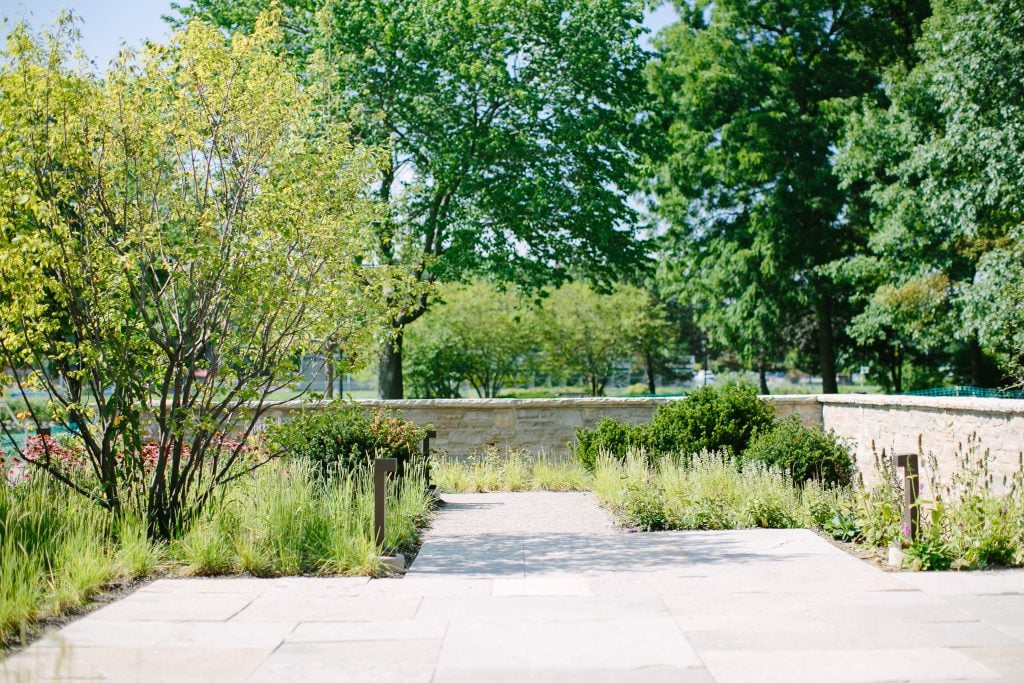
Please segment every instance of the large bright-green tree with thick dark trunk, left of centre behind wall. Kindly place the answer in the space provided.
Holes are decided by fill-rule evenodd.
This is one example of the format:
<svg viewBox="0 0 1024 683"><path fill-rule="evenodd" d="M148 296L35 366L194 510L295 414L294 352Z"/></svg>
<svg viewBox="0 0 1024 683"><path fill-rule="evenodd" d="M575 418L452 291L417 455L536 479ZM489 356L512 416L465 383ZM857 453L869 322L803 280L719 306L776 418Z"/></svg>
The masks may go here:
<svg viewBox="0 0 1024 683"><path fill-rule="evenodd" d="M254 2L194 0L236 29ZM338 116L386 145L378 258L419 281L485 272L527 287L633 267L627 204L644 105L639 0L292 0L307 74ZM313 20L313 17L316 20ZM380 395L402 395L402 333L429 292L397 310Z"/></svg>

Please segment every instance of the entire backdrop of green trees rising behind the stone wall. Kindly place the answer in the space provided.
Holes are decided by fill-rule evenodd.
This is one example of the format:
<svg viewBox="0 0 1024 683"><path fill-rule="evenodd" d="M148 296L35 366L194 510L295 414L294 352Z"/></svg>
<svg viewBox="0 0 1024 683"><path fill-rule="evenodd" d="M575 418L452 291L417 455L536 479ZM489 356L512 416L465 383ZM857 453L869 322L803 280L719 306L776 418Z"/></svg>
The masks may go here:
<svg viewBox="0 0 1024 683"><path fill-rule="evenodd" d="M177 9L239 31L262 4ZM762 389L783 361L825 392L864 366L891 391L1024 379L1024 7L674 4L646 49L638 0L281 3L323 116L390 151L374 258L412 284L385 293L381 396L403 367L418 394L493 395L523 364L600 392L603 295L577 282L648 312L648 368L711 347Z"/></svg>

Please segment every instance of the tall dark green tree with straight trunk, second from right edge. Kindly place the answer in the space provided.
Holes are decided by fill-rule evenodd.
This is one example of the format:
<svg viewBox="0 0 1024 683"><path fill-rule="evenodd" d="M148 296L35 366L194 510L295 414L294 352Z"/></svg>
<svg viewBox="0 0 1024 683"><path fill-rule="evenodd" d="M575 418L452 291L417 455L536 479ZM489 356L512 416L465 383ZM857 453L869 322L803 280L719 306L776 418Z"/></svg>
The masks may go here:
<svg viewBox="0 0 1024 683"><path fill-rule="evenodd" d="M670 136L658 210L678 279L722 343L763 359L785 318L813 311L823 390L835 392L835 284L822 266L856 243L831 151L834 103L877 88L927 2L677 3L651 86Z"/></svg>

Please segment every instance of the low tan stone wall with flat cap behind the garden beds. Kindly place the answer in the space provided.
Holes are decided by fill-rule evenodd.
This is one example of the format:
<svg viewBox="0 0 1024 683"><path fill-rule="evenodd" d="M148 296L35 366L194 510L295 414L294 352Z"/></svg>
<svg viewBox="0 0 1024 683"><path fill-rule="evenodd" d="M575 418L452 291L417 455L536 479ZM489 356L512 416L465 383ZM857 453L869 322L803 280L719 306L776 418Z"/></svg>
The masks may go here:
<svg viewBox="0 0 1024 683"><path fill-rule="evenodd" d="M996 483L1011 477L1024 450L1024 400L933 398L870 394L765 396L776 415L798 415L807 425L835 431L851 447L866 483L874 477L874 454L934 455L941 477L955 470L956 455L977 443L992 457ZM492 398L364 400L368 408L398 410L417 424L432 424L432 445L454 457L489 447L564 455L578 427L602 418L639 423L658 405L679 398ZM268 419L287 419L298 407L285 403ZM309 409L315 410L315 407Z"/></svg>

